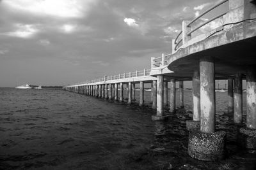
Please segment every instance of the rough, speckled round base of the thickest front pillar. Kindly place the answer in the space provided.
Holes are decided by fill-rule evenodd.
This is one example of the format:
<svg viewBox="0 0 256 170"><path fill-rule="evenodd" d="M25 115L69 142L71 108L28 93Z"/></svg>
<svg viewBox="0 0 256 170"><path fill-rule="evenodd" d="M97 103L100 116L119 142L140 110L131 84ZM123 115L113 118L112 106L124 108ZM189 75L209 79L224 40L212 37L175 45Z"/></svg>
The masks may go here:
<svg viewBox="0 0 256 170"><path fill-rule="evenodd" d="M214 161L224 158L226 132L189 131L188 155L194 159Z"/></svg>

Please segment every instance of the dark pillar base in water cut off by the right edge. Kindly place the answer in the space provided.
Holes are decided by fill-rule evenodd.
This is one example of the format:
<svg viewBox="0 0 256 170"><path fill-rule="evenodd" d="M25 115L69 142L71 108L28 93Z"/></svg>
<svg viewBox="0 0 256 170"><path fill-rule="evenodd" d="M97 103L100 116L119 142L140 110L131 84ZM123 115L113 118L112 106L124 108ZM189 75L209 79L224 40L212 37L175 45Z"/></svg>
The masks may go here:
<svg viewBox="0 0 256 170"><path fill-rule="evenodd" d="M256 153L256 129L239 129L239 138L241 146L247 149L249 153Z"/></svg>

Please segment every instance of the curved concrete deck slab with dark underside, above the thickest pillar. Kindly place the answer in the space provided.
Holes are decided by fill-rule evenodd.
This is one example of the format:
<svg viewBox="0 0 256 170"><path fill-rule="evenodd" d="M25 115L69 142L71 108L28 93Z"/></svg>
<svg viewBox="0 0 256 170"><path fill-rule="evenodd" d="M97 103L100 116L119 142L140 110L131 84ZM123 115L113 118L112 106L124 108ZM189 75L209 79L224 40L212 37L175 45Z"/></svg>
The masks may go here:
<svg viewBox="0 0 256 170"><path fill-rule="evenodd" d="M243 66L256 64L256 22L232 25L220 34L186 46L168 59L172 76L192 77L200 57L214 56L216 77L230 76L238 71L245 73ZM232 49L232 50L230 50ZM241 57L243 56L243 57Z"/></svg>

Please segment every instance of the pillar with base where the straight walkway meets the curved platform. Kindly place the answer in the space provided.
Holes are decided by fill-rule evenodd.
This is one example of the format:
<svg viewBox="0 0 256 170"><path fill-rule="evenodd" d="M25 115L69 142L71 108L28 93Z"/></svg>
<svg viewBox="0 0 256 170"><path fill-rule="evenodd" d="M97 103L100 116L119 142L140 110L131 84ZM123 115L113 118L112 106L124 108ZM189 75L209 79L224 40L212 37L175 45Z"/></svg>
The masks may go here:
<svg viewBox="0 0 256 170"><path fill-rule="evenodd" d="M156 115L152 116L152 120L164 120L168 117L163 116L163 76L157 75L157 106Z"/></svg>

